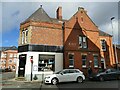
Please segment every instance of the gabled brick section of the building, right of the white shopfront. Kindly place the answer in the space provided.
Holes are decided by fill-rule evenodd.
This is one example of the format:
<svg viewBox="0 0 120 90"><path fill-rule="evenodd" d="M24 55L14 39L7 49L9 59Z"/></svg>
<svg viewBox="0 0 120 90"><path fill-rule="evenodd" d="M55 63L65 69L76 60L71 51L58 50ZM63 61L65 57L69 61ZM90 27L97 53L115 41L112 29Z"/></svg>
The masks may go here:
<svg viewBox="0 0 120 90"><path fill-rule="evenodd" d="M87 74L99 68L109 68L115 63L112 36L100 31L84 8L64 23L65 68L79 68Z"/></svg>

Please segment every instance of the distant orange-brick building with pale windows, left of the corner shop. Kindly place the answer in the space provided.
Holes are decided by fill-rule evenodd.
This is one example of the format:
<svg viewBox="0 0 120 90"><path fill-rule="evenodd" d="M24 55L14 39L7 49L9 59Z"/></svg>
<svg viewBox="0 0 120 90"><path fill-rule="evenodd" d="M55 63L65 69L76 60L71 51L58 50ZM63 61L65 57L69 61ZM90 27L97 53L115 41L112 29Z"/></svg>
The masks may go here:
<svg viewBox="0 0 120 90"><path fill-rule="evenodd" d="M17 47L0 47L0 68L16 70L17 63Z"/></svg>

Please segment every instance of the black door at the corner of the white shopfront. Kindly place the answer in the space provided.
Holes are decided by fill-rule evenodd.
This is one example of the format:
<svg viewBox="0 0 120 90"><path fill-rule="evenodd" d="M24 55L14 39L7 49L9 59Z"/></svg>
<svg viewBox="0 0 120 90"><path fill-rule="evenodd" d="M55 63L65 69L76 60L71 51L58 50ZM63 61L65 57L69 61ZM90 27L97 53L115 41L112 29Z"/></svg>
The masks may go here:
<svg viewBox="0 0 120 90"><path fill-rule="evenodd" d="M19 55L18 77L24 77L25 75L26 56L26 54Z"/></svg>

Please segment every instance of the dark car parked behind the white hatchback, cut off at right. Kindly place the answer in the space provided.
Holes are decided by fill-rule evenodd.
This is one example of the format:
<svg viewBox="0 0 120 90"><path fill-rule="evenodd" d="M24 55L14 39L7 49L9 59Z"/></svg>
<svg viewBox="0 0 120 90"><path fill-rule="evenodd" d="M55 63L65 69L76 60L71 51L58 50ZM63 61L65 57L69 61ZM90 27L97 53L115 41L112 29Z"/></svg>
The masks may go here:
<svg viewBox="0 0 120 90"><path fill-rule="evenodd" d="M105 71L98 72L96 74L92 74L89 77L90 80L99 80L99 81L104 81L104 80L115 80L119 79L120 80L120 70L117 69L106 69Z"/></svg>

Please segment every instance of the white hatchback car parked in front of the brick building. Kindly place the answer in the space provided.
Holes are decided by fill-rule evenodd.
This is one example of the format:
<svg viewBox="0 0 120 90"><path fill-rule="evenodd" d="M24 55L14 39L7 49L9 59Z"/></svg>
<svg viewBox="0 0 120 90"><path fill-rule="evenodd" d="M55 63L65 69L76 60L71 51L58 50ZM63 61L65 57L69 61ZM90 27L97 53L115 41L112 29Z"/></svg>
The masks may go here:
<svg viewBox="0 0 120 90"><path fill-rule="evenodd" d="M79 69L64 69L52 75L48 75L44 79L44 83L56 85L59 82L77 81L82 83L85 80L83 72Z"/></svg>

